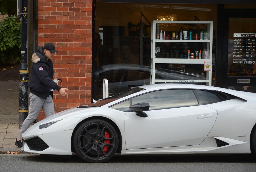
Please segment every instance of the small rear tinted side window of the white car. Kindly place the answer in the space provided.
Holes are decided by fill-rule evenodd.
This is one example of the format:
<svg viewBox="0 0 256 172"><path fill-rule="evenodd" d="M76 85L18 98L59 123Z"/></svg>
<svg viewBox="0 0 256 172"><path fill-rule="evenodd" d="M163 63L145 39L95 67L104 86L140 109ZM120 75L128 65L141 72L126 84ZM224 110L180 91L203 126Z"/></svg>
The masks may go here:
<svg viewBox="0 0 256 172"><path fill-rule="evenodd" d="M202 91L202 90L195 90L198 95L198 101L200 104L211 104L211 103L218 103L222 100L213 92L209 91Z"/></svg>

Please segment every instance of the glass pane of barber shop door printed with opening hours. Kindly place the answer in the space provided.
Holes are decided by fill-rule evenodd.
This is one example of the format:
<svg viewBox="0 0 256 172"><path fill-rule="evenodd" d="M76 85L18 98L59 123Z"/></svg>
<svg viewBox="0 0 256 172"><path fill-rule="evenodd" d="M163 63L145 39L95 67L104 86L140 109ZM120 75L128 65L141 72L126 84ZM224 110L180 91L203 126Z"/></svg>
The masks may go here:
<svg viewBox="0 0 256 172"><path fill-rule="evenodd" d="M256 91L256 18L229 18L227 76L237 82L229 89Z"/></svg>

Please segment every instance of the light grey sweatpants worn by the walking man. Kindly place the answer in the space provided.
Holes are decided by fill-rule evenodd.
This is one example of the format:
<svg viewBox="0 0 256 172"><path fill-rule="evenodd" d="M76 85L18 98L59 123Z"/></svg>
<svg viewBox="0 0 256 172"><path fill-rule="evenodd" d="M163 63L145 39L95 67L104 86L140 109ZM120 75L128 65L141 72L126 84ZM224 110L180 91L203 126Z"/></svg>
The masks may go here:
<svg viewBox="0 0 256 172"><path fill-rule="evenodd" d="M49 97L47 97L47 99L45 100L33 93L29 93L29 98L29 114L22 124L21 131L19 132L18 136L19 138L21 138L23 132L25 132L30 127L30 125L37 119L41 108L43 109L46 117L55 114L53 99L51 98L51 95L49 95Z"/></svg>

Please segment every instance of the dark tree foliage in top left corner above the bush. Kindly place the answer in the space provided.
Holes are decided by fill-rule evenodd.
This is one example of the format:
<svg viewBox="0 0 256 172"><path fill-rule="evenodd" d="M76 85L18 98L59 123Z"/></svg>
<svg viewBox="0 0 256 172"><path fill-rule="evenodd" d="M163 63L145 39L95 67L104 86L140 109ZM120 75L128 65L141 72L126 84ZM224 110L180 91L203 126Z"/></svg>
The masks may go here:
<svg viewBox="0 0 256 172"><path fill-rule="evenodd" d="M17 0L0 0L0 12L5 15L17 16Z"/></svg>

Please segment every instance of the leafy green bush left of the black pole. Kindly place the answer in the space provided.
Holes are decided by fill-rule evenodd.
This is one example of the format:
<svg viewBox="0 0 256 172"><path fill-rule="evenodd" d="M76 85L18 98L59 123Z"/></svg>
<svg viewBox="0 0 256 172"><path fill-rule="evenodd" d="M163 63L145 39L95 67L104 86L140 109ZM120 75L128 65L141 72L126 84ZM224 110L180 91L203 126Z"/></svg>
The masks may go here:
<svg viewBox="0 0 256 172"><path fill-rule="evenodd" d="M0 20L0 66L21 62L21 22L10 16Z"/></svg>

